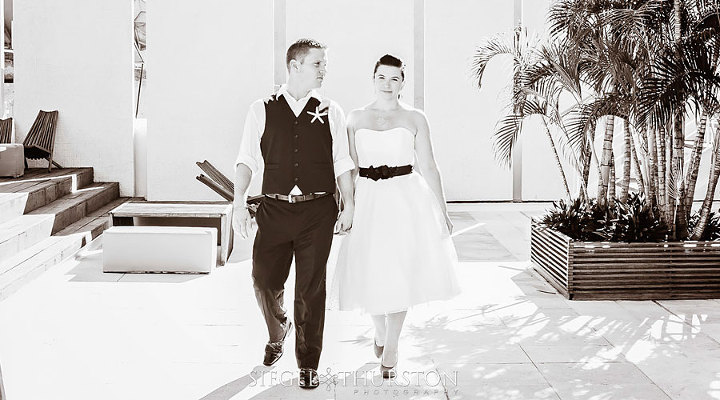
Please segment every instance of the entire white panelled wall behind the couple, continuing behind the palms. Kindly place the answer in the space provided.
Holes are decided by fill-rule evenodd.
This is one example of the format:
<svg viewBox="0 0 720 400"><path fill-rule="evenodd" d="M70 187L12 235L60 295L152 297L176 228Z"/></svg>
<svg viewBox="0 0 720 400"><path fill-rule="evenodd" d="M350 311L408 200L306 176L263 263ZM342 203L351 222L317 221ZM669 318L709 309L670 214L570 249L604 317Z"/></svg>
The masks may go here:
<svg viewBox="0 0 720 400"><path fill-rule="evenodd" d="M544 32L551 2L522 0L524 26L531 35ZM207 159L233 175L248 105L271 93L278 61L282 66L285 49L301 37L328 44L328 75L321 92L338 101L346 113L372 100L372 68L380 56L391 53L402 58L407 64L403 100L412 104L420 97L416 95L424 95L448 199L512 199L512 172L500 165L492 150L492 133L508 101L505 89L511 61L492 62L481 90L471 73L480 41L512 31L512 1L211 0L202 7L196 4L148 2L149 200L220 199L195 180L200 173L195 161ZM275 13L274 6L279 7ZM418 8L425 17L424 59L415 53L414 33L422 32L414 25ZM283 18L282 26L274 26ZM417 64L424 65L423 82L415 82ZM416 88L424 88L424 93L414 93ZM622 131L618 132L615 145L621 146ZM520 140L523 198L563 197L555 160L537 119L527 121ZM600 151L601 146L596 148ZM618 165L621 150L616 149ZM577 179L563 162L576 193ZM597 185L594 170L591 193ZM704 165L702 171L706 170ZM257 186L256 181L253 187ZM696 196L702 195L704 188L698 186Z"/></svg>

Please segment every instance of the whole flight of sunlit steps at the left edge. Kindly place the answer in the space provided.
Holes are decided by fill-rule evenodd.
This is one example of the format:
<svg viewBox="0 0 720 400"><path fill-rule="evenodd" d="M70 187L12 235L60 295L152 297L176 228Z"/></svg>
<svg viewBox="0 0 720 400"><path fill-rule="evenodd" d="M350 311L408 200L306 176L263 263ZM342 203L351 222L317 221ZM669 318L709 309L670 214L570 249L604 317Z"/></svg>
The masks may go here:
<svg viewBox="0 0 720 400"><path fill-rule="evenodd" d="M107 212L128 199L118 197L116 182L94 183L93 175L92 168L31 168L0 178L0 298L109 226Z"/></svg>

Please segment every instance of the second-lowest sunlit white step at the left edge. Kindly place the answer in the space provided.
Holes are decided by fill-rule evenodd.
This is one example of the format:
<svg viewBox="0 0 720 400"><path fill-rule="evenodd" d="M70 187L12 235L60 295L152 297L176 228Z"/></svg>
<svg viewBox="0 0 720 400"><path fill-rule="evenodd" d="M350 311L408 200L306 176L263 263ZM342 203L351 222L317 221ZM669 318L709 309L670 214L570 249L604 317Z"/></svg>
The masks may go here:
<svg viewBox="0 0 720 400"><path fill-rule="evenodd" d="M50 236L53 215L21 215L0 225L0 262Z"/></svg>

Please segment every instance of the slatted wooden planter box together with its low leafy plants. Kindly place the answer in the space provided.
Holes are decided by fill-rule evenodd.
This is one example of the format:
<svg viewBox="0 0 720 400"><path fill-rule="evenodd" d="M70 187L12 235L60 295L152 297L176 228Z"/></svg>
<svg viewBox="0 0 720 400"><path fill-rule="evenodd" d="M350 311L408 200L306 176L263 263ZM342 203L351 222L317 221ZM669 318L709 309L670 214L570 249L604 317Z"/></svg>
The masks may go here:
<svg viewBox="0 0 720 400"><path fill-rule="evenodd" d="M698 241L667 241L661 210L630 193L612 206L559 201L533 220L531 259L573 300L720 297L720 221L711 214ZM700 220L696 213L691 227Z"/></svg>

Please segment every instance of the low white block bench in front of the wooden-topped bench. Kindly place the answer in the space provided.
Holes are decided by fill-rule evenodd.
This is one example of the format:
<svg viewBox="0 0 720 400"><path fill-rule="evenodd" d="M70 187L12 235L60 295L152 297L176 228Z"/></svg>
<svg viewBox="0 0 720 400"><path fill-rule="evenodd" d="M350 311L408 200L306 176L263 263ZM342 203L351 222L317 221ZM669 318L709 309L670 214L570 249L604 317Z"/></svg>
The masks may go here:
<svg viewBox="0 0 720 400"><path fill-rule="evenodd" d="M217 229L113 226L103 232L103 272L209 273L217 259Z"/></svg>

